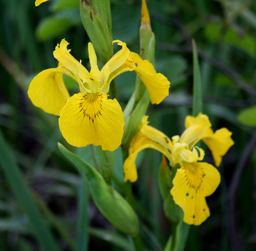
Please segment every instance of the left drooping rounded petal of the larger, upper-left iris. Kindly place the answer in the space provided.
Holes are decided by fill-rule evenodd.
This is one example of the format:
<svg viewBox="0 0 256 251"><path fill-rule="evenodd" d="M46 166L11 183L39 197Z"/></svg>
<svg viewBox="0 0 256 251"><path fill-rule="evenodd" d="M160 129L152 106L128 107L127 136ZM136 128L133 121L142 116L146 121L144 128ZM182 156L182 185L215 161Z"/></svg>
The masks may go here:
<svg viewBox="0 0 256 251"><path fill-rule="evenodd" d="M69 98L62 74L71 75L63 68L53 68L43 70L33 78L28 87L28 97L34 106L47 113L60 115L60 110Z"/></svg>

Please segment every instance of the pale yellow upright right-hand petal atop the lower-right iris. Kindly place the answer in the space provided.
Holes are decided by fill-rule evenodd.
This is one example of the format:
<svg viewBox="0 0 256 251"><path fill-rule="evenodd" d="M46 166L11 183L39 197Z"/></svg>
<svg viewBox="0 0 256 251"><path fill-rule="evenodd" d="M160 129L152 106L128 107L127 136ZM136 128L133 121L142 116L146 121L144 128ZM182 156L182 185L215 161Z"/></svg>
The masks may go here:
<svg viewBox="0 0 256 251"><path fill-rule="evenodd" d="M186 122L188 124L187 119L185 125ZM189 149L192 149L192 147L204 137L207 129L211 126L212 124L210 123L208 116L199 113L196 117L196 122L191 124L180 136L180 144L186 143L189 145Z"/></svg>

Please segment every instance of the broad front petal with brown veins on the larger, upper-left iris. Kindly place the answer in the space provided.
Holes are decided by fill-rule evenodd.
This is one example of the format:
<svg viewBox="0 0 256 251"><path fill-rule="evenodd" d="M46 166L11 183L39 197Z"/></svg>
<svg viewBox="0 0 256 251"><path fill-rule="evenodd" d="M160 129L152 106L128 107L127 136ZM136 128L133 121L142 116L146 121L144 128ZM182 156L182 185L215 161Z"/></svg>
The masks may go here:
<svg viewBox="0 0 256 251"><path fill-rule="evenodd" d="M108 100L104 92L80 92L60 111L59 126L71 145L101 145L102 150L114 151L121 144L124 117L117 100Z"/></svg>

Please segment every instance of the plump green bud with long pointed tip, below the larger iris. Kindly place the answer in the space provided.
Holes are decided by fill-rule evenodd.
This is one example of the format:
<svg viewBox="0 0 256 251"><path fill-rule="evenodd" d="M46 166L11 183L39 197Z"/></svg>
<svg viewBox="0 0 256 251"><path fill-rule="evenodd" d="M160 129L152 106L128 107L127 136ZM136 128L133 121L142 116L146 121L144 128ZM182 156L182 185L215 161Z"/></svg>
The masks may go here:
<svg viewBox="0 0 256 251"><path fill-rule="evenodd" d="M88 181L92 198L100 212L120 231L135 237L139 219L131 205L91 165L58 143L60 151L77 167Z"/></svg>

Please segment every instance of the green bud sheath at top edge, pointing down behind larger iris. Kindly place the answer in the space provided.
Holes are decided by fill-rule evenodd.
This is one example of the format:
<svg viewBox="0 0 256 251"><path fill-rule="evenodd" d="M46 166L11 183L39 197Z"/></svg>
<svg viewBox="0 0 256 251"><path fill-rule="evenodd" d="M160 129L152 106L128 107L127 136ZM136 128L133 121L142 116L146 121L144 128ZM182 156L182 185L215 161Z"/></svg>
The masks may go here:
<svg viewBox="0 0 256 251"><path fill-rule="evenodd" d="M80 15L84 28L94 48L97 50L102 63L105 64L113 55L111 17L106 18L106 16L103 15L103 3L100 4L97 2L107 3L108 1L81 0Z"/></svg>

